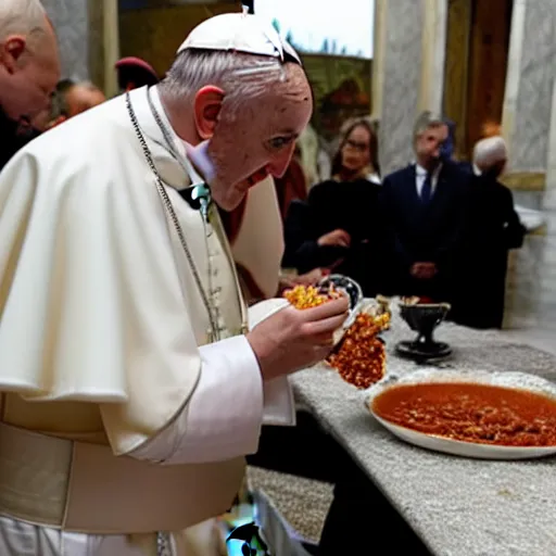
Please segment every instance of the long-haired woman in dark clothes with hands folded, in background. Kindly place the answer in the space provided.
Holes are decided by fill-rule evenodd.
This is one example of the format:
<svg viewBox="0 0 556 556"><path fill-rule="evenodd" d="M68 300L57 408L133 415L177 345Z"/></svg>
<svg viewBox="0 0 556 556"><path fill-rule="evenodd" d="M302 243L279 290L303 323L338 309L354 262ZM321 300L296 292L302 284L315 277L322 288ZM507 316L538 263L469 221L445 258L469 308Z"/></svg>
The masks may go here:
<svg viewBox="0 0 556 556"><path fill-rule="evenodd" d="M368 118L344 125L333 159L333 178L314 186L307 202L292 203L285 223L285 267L300 274L328 268L376 287L365 271L379 249L380 176L377 137Z"/></svg>

